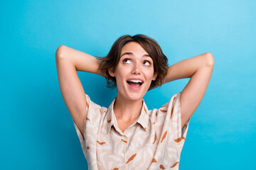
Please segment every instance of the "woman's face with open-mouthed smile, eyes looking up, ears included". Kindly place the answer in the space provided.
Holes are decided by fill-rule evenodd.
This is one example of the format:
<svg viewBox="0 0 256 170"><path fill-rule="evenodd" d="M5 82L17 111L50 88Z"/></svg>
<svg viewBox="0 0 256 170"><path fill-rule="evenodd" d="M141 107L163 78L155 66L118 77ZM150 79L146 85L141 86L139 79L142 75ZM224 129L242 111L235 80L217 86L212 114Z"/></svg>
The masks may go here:
<svg viewBox="0 0 256 170"><path fill-rule="evenodd" d="M117 97L139 100L148 91L151 81L156 79L154 63L149 54L137 42L129 42L121 50L116 69L110 76L117 81Z"/></svg>

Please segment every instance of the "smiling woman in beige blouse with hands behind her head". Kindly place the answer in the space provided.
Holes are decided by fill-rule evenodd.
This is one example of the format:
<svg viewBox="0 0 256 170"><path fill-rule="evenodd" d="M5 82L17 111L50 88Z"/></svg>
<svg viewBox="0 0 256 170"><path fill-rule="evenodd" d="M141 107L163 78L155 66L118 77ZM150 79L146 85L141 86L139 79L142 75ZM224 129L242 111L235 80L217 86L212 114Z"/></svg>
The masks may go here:
<svg viewBox="0 0 256 170"><path fill-rule="evenodd" d="M146 35L120 37L107 57L60 45L60 91L89 169L178 169L189 120L206 93L213 65L206 52L168 67L161 47ZM117 86L109 108L90 100L77 71L99 74L108 86ZM161 108L147 109L146 91L183 78L190 78L183 91Z"/></svg>

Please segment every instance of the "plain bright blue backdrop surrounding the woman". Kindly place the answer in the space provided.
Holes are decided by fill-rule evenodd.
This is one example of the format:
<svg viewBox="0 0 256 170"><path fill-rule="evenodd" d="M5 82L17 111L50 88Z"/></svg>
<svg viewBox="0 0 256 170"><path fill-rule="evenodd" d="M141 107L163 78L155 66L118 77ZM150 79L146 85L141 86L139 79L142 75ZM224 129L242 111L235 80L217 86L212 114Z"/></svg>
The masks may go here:
<svg viewBox="0 0 256 170"><path fill-rule="evenodd" d="M256 1L1 1L0 18L0 169L87 169L55 50L105 56L119 36L137 33L159 42L169 65L204 52L215 59L180 169L256 169ZM116 89L98 75L78 75L92 101L108 107ZM149 109L188 80L149 91Z"/></svg>

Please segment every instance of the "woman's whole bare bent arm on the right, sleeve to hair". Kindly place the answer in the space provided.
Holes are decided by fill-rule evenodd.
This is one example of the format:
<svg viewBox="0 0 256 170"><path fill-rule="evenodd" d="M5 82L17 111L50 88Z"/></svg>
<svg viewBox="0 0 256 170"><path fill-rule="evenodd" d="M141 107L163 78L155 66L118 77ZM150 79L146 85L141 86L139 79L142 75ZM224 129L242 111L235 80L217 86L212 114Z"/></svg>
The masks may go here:
<svg viewBox="0 0 256 170"><path fill-rule="evenodd" d="M214 59L210 52L177 62L169 67L164 83L190 78L181 92L181 127L191 118L201 103L213 73Z"/></svg>

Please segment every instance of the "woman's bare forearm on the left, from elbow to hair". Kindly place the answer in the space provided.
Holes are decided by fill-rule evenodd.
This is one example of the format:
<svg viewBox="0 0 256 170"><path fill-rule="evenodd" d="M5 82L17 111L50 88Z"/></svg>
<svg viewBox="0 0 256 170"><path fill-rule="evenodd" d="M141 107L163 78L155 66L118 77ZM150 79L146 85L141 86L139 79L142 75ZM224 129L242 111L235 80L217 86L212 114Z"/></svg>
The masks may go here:
<svg viewBox="0 0 256 170"><path fill-rule="evenodd" d="M102 76L98 60L92 55L88 55L85 52L75 50L65 45L60 45L55 55L56 60L68 60L70 64L74 64L76 71L91 72Z"/></svg>

